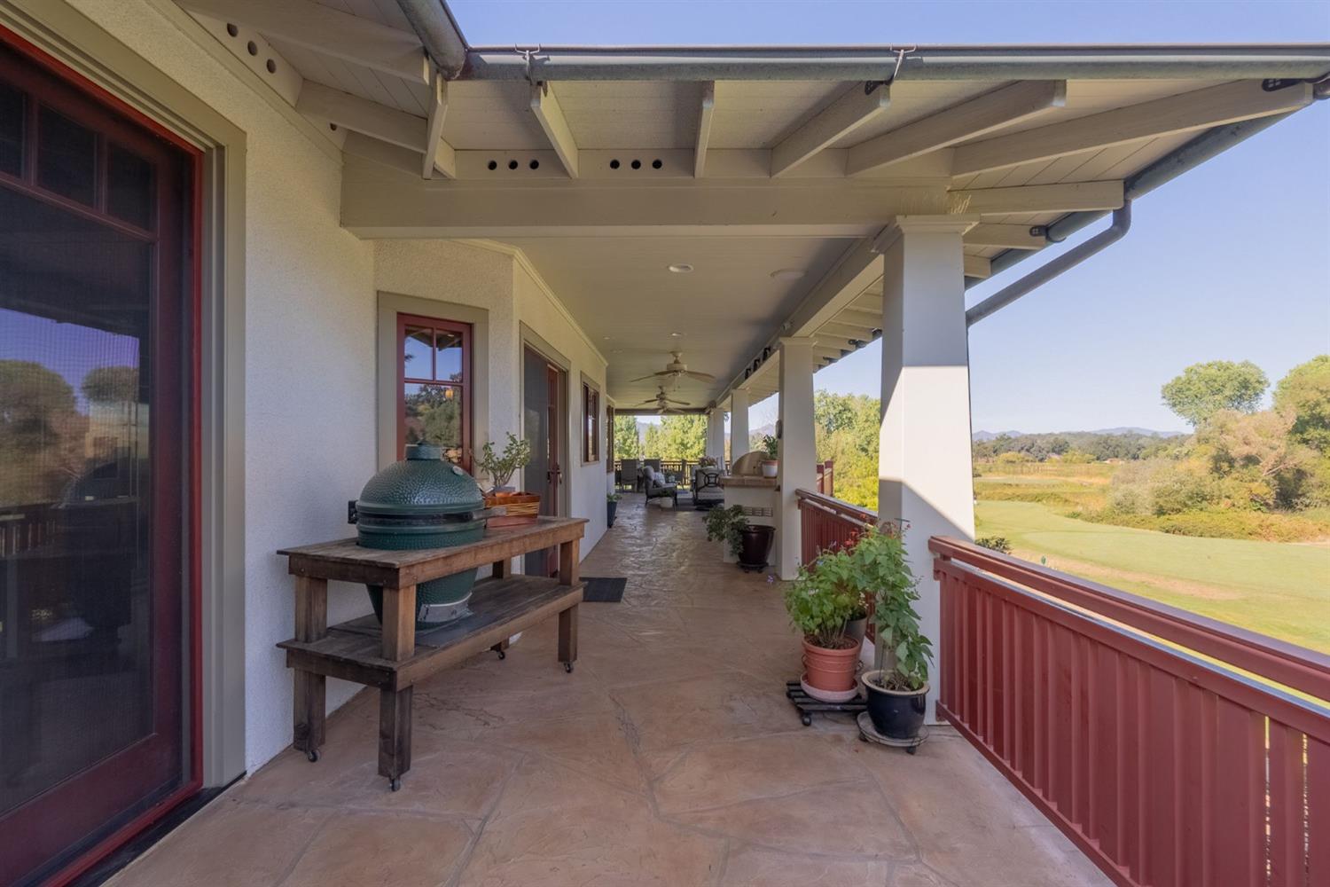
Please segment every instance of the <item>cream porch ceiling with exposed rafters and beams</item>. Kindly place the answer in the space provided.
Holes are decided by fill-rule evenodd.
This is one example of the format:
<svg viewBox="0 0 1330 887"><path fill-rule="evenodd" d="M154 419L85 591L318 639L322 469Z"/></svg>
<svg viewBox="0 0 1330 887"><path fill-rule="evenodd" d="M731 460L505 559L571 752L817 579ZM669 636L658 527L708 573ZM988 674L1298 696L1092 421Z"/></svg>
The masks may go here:
<svg viewBox="0 0 1330 887"><path fill-rule="evenodd" d="M875 330L864 247L895 215L975 215L982 279L1041 249L1032 226L1119 207L1133 174L1309 105L1330 72L1319 45L485 48L443 81L392 0L177 3L343 150L348 230L521 249L621 404L673 344L720 379L678 387L698 406L759 394L745 370L794 328L822 363L853 351Z"/></svg>

